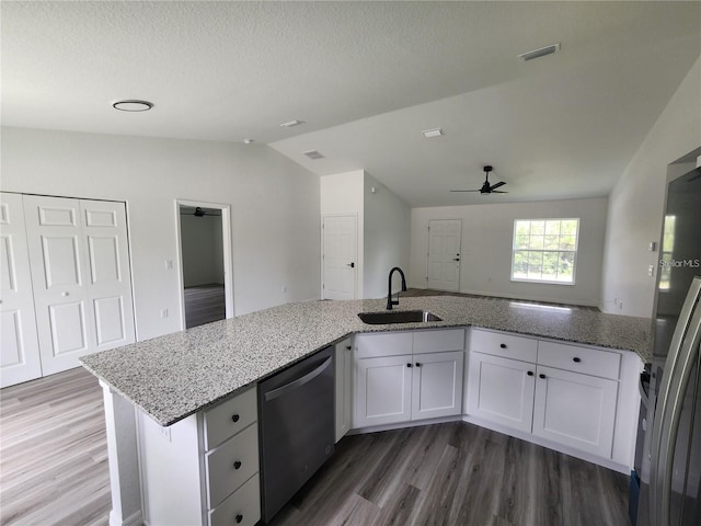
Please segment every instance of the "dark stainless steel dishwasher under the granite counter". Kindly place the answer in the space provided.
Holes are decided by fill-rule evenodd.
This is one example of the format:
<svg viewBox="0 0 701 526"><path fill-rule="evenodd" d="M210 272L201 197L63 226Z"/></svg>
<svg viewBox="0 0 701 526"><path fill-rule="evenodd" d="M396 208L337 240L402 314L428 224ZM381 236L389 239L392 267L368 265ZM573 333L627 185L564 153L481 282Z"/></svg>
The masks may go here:
<svg viewBox="0 0 701 526"><path fill-rule="evenodd" d="M325 347L258 384L264 523L333 453L332 351Z"/></svg>

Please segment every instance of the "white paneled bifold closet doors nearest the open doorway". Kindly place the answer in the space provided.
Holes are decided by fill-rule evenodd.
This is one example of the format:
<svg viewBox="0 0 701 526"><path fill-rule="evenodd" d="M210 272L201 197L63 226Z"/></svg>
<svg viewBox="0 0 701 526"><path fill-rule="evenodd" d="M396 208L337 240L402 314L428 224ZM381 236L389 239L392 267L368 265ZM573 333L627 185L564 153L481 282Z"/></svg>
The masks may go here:
<svg viewBox="0 0 701 526"><path fill-rule="evenodd" d="M135 341L123 203L24 196L44 375Z"/></svg>

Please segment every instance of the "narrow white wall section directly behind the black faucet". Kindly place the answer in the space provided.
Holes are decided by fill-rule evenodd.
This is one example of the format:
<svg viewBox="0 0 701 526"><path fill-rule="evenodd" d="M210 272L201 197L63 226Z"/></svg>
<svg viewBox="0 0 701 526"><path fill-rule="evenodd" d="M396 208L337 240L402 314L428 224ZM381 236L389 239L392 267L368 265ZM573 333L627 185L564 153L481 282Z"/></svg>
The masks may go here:
<svg viewBox="0 0 701 526"><path fill-rule="evenodd" d="M375 192L372 192L375 188ZM397 194L365 174L364 187L364 298L387 296L387 278L392 267L401 267L409 278L411 208ZM400 290L399 273L393 290Z"/></svg>

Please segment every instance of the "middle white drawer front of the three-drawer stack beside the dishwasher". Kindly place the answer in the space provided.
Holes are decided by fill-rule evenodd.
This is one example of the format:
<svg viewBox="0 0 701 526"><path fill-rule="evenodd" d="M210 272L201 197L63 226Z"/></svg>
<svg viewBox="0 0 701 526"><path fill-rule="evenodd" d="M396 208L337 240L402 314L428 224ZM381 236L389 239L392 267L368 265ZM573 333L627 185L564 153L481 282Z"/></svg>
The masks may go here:
<svg viewBox="0 0 701 526"><path fill-rule="evenodd" d="M251 425L206 456L211 510L258 471L258 428Z"/></svg>

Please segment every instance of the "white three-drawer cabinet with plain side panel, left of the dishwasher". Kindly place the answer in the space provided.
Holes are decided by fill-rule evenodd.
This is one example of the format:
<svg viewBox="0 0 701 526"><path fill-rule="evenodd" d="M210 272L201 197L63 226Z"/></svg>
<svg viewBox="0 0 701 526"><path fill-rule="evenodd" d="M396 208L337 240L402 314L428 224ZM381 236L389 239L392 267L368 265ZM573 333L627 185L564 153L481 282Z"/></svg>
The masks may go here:
<svg viewBox="0 0 701 526"><path fill-rule="evenodd" d="M260 521L255 388L169 427L137 414L149 526L253 526Z"/></svg>

